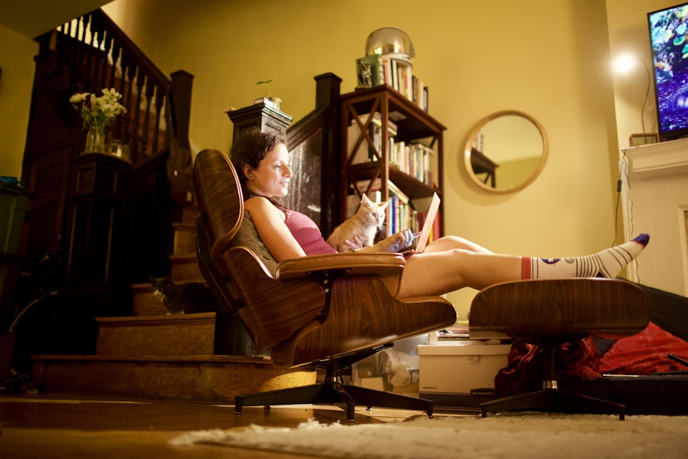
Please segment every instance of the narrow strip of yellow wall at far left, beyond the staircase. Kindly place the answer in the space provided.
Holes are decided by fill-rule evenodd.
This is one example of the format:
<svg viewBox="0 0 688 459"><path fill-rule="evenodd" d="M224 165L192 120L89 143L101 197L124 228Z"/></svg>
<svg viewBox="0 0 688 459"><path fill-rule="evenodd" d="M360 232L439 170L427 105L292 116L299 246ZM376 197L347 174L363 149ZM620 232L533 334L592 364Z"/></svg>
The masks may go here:
<svg viewBox="0 0 688 459"><path fill-rule="evenodd" d="M21 177L38 49L35 41L0 25L0 175Z"/></svg>

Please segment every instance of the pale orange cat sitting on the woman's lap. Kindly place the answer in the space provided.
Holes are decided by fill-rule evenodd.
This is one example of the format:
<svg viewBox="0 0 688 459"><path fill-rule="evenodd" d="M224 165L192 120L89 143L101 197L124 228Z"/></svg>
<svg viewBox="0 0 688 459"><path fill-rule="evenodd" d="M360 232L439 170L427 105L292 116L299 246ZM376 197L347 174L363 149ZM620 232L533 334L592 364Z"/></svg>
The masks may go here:
<svg viewBox="0 0 688 459"><path fill-rule="evenodd" d="M346 239L353 242L354 237L361 239L363 247L372 246L378 231L384 231L385 210L389 205L389 200L377 204L368 199L364 194L361 198L361 206L349 220L334 228L332 235L327 238L327 244L334 247L338 252L346 252L349 248L344 244Z"/></svg>

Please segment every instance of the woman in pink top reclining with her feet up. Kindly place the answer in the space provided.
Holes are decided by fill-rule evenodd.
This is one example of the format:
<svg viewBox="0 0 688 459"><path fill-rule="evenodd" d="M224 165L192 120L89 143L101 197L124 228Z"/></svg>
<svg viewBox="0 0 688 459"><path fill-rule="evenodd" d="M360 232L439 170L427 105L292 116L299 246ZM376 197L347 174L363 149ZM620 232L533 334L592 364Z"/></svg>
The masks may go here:
<svg viewBox="0 0 688 459"><path fill-rule="evenodd" d="M316 224L305 215L285 209L276 200L287 194L292 171L283 137L248 131L232 147L231 160L244 191L244 209L257 236L277 263L291 258L336 253ZM399 252L411 245L410 230L361 248L347 241L355 252ZM585 257L541 259L499 255L461 237L440 237L423 253L407 259L398 297L442 295L471 287L480 290L497 282L534 278L614 278L647 245L649 236ZM407 280L409 279L409 280ZM412 279L412 281L410 280Z"/></svg>

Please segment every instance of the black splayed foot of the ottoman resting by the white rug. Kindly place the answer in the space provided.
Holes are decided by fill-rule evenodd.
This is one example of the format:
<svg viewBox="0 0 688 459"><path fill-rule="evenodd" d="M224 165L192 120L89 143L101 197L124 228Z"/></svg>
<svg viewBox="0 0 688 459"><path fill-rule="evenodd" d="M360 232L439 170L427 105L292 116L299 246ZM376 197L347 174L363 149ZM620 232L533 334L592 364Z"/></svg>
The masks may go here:
<svg viewBox="0 0 688 459"><path fill-rule="evenodd" d="M619 420L625 418L625 405L594 398L563 389L540 389L535 392L517 394L480 404L482 417L497 412L550 412L581 414L616 414Z"/></svg>

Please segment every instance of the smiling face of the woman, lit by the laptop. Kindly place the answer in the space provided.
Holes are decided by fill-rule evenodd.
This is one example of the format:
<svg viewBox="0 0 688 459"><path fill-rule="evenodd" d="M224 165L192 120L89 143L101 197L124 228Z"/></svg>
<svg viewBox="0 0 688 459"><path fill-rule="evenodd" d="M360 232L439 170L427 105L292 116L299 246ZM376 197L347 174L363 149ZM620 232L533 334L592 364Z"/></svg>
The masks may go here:
<svg viewBox="0 0 688 459"><path fill-rule="evenodd" d="M266 153L265 158L253 169L244 165L246 186L250 191L264 196L286 196L292 170L288 165L289 152L284 144L278 143Z"/></svg>

